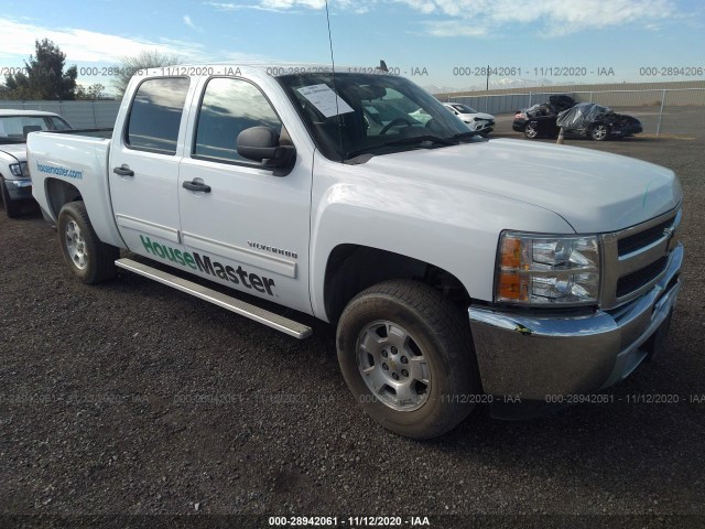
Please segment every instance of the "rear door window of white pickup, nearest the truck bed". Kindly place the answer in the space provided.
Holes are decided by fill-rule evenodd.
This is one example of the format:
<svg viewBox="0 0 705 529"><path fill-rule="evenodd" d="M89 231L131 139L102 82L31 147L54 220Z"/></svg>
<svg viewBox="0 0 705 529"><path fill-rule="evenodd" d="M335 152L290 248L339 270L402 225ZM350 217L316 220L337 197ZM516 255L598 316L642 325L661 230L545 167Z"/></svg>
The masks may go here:
<svg viewBox="0 0 705 529"><path fill-rule="evenodd" d="M188 83L187 78L177 77L149 79L140 85L124 136L130 148L176 154Z"/></svg>

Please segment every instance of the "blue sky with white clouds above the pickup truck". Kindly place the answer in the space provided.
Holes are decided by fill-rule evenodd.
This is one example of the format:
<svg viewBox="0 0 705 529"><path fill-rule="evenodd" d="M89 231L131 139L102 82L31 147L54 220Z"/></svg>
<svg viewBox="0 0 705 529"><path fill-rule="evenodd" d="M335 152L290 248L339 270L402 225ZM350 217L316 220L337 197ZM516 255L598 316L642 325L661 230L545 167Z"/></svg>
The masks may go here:
<svg viewBox="0 0 705 529"><path fill-rule="evenodd" d="M705 79L699 0L4 0L0 74L50 39L78 82L141 51L185 64L372 67L438 89ZM490 66L490 76L481 68ZM4 78L3 76L0 78Z"/></svg>

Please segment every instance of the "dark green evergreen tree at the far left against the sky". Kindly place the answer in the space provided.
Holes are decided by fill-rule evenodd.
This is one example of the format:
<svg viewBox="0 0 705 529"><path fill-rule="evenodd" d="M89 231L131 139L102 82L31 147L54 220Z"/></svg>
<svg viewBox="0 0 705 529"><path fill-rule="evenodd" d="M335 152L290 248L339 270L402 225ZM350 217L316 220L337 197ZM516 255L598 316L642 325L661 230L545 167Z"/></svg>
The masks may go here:
<svg viewBox="0 0 705 529"><path fill-rule="evenodd" d="M24 62L26 74L7 75L6 99L70 100L76 91L76 65L64 72L66 54L48 39L34 41L36 54Z"/></svg>

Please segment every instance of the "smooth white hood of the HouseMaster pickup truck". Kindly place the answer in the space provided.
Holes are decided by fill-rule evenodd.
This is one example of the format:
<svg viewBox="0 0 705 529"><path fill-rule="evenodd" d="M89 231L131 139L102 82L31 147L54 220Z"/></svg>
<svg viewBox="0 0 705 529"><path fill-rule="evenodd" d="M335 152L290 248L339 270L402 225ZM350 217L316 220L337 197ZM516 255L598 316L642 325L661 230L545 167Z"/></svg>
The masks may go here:
<svg viewBox="0 0 705 529"><path fill-rule="evenodd" d="M533 204L555 212L579 234L637 225L673 209L682 197L673 171L660 165L522 140L399 152L375 156L365 165L400 180L478 190Z"/></svg>

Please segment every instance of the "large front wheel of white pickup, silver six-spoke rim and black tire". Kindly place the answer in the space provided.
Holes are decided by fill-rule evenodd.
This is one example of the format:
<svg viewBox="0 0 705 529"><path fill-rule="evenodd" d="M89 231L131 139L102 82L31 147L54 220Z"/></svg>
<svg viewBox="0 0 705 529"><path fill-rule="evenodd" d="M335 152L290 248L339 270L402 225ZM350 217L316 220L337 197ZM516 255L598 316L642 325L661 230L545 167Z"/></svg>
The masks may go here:
<svg viewBox="0 0 705 529"><path fill-rule="evenodd" d="M357 401L400 435L431 439L448 432L473 411L478 399L469 396L481 391L468 322L423 283L386 281L355 296L340 316L336 343L343 376ZM400 347L390 345L394 343ZM365 376L361 369L367 369ZM394 375L402 384L391 379ZM376 391L378 379L389 384ZM409 388L412 398L400 402L393 385Z"/></svg>

